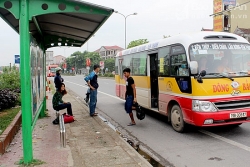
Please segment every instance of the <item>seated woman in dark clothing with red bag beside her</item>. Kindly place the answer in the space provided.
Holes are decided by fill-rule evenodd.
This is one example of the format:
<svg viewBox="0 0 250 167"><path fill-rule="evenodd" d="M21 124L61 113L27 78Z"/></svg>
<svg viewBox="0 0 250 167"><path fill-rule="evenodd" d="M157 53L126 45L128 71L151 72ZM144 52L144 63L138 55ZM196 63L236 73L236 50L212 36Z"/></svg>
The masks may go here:
<svg viewBox="0 0 250 167"><path fill-rule="evenodd" d="M56 91L56 93L53 96L53 100L52 100L53 108L56 111L63 110L65 108L67 108L67 114L73 116L71 103L70 102L64 102L62 100L62 97L65 94L67 94L67 91L65 89L65 84L61 83L61 86L58 88L58 90Z"/></svg>

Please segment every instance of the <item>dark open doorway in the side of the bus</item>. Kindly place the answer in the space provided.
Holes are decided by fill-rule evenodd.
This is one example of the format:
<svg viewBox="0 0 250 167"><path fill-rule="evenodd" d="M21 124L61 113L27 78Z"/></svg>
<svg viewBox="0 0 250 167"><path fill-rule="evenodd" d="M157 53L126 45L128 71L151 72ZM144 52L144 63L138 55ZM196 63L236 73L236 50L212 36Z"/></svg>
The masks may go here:
<svg viewBox="0 0 250 167"><path fill-rule="evenodd" d="M158 89L158 54L153 53L149 55L149 71L150 75L150 99L151 99L151 108L158 110L158 98L159 98L159 89Z"/></svg>

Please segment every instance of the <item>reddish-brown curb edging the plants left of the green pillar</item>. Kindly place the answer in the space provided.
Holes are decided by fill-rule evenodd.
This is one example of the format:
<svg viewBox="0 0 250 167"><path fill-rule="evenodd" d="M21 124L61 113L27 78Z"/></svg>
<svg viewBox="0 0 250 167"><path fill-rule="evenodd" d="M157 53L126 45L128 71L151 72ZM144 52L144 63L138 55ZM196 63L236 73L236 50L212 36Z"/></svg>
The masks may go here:
<svg viewBox="0 0 250 167"><path fill-rule="evenodd" d="M9 124L9 126L4 130L4 132L0 135L0 155L3 155L15 135L19 131L22 124L22 114L21 111L17 113L13 121Z"/></svg>

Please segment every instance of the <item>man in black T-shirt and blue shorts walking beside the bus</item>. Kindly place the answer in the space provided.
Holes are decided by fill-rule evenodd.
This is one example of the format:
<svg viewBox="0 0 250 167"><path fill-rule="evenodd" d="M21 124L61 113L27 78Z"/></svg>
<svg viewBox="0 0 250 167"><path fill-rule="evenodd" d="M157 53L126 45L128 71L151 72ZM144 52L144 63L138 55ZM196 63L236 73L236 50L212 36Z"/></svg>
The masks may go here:
<svg viewBox="0 0 250 167"><path fill-rule="evenodd" d="M129 117L131 119L131 122L128 124L128 126L136 125L133 112L132 110L135 110L135 107L133 107L133 104L137 102L136 100L136 89L135 89L135 82L134 79L130 76L130 68L125 68L123 70L123 75L127 79L126 80L126 93L125 93L125 110L129 114Z"/></svg>

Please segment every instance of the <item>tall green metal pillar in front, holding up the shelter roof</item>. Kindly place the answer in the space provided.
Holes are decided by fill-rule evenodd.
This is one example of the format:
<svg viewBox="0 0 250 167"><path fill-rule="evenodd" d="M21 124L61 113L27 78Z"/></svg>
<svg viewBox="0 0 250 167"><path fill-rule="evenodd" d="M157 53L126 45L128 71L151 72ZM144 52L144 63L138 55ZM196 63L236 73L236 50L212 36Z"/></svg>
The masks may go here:
<svg viewBox="0 0 250 167"><path fill-rule="evenodd" d="M20 0L20 71L22 103L23 159L27 164L33 159L32 150L32 99L30 72L29 0Z"/></svg>

